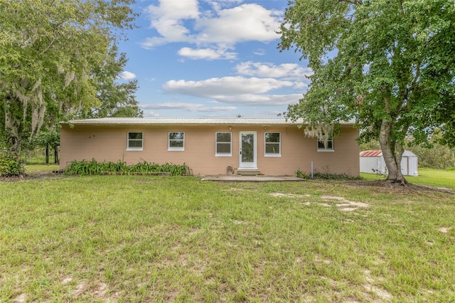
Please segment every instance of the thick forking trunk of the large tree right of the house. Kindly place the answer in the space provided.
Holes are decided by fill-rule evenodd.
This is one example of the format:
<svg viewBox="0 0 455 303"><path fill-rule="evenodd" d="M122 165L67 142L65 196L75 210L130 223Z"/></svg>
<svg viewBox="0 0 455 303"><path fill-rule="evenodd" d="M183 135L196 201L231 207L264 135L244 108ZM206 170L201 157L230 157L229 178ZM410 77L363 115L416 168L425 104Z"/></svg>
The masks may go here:
<svg viewBox="0 0 455 303"><path fill-rule="evenodd" d="M407 185L407 181L401 172L401 159L405 149L401 144L392 141L392 122L382 120L379 143L382 149L385 165L387 166L387 181L400 185Z"/></svg>

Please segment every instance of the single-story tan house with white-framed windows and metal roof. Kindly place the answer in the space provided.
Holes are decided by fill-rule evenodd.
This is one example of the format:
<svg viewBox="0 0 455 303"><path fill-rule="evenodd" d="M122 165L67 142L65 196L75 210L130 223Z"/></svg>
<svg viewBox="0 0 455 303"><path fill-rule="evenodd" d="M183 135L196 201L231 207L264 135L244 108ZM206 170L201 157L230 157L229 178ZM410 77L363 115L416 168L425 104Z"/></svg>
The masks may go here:
<svg viewBox="0 0 455 303"><path fill-rule="evenodd" d="M61 124L60 169L70 161L185 163L194 175L257 172L295 176L300 170L359 175L358 129L324 144L286 119L100 118Z"/></svg>

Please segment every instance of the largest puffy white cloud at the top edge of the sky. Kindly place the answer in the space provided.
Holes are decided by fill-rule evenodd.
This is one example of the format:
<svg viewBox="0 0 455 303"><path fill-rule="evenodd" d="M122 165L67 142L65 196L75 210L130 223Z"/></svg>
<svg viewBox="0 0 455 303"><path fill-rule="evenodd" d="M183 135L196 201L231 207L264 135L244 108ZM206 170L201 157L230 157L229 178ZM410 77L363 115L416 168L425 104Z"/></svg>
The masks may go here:
<svg viewBox="0 0 455 303"><path fill-rule="evenodd" d="M196 0L160 0L158 6L150 5L145 10L151 28L156 29L158 35L146 38L141 46L154 48L166 43L186 42L209 46L205 49L214 50L232 48L239 42L267 43L279 38L276 31L282 22L281 11L267 10L259 4L223 9L223 6L238 2L206 0L212 9L200 12ZM213 60L213 57L203 55L193 58Z"/></svg>

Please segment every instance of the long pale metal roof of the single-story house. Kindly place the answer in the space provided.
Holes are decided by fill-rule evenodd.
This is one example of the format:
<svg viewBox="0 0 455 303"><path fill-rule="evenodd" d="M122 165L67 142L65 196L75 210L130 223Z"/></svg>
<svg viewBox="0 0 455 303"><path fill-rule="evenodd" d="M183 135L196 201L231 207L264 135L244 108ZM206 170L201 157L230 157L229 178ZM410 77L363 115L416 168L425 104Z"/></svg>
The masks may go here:
<svg viewBox="0 0 455 303"><path fill-rule="evenodd" d="M283 118L97 118L97 119L75 119L62 124L103 124L103 125L125 125L125 124L186 124L186 125L300 125L303 120L292 122ZM347 122L346 125L353 125Z"/></svg>

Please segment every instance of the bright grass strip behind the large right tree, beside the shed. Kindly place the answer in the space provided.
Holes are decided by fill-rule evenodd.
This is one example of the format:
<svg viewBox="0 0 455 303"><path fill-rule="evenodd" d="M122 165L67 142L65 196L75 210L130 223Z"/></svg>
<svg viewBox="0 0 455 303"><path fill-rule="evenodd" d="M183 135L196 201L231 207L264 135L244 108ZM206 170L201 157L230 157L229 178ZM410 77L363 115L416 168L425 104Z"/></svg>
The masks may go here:
<svg viewBox="0 0 455 303"><path fill-rule="evenodd" d="M365 173L361 173L360 176L365 180L382 180L386 178L386 176ZM405 178L411 184L455 189L455 171L419 169L419 176L406 176Z"/></svg>

